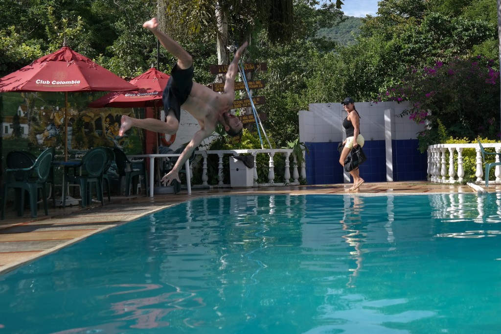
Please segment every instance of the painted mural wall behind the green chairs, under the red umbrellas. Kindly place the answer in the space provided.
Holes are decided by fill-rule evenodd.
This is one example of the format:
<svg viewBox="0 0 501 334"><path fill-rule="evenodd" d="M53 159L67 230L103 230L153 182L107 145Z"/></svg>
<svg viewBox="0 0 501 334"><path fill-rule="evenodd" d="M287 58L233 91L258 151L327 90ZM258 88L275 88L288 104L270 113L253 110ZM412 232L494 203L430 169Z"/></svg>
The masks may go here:
<svg viewBox="0 0 501 334"><path fill-rule="evenodd" d="M13 149L42 151L56 148L62 156L65 140L65 111L62 93L2 94L2 155ZM128 115L144 117L142 108L88 108L96 93L70 94L68 99L68 150L70 156L92 147L119 147L126 153L144 150L141 130L133 128L118 136L120 118Z"/></svg>

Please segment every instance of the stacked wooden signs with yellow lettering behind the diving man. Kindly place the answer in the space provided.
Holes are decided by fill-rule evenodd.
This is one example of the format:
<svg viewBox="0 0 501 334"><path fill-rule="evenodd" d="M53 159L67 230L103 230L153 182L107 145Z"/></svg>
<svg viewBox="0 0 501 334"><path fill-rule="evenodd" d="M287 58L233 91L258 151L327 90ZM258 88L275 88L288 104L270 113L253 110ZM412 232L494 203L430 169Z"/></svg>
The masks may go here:
<svg viewBox="0 0 501 334"><path fill-rule="evenodd" d="M244 72L254 72L254 71L266 71L267 65L266 63L245 63L243 64L243 71ZM224 74L228 70L228 65L211 65L210 66L210 73L211 74ZM250 89L259 89L259 88L264 88L265 87L265 82L264 80L255 80L255 81L248 81L247 86ZM209 85L209 88L211 88L214 92L222 92L224 91L224 82L217 82L217 83L212 83ZM245 84L242 81L237 81L235 82L235 90L245 90ZM253 102L254 105L260 105L260 104L265 104L266 103L266 98L264 96L254 96L253 97ZM245 99L238 99L233 101L233 105L231 106L231 109L238 109L238 108L246 108L252 106L250 104L250 99L247 97ZM260 113L259 117L261 120L266 118L265 113ZM256 118L254 117L254 114L246 114L246 115L241 115L238 116L240 120L242 121L242 124L249 124L249 123L254 123L256 124Z"/></svg>

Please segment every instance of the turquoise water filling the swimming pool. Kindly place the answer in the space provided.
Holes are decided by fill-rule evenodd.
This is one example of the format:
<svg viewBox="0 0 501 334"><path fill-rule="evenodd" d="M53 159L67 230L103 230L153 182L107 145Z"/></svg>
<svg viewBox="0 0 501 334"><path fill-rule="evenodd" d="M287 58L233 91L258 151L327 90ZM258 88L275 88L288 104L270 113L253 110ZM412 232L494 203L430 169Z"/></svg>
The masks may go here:
<svg viewBox="0 0 501 334"><path fill-rule="evenodd" d="M1 333L499 333L501 194L197 199L0 276Z"/></svg>

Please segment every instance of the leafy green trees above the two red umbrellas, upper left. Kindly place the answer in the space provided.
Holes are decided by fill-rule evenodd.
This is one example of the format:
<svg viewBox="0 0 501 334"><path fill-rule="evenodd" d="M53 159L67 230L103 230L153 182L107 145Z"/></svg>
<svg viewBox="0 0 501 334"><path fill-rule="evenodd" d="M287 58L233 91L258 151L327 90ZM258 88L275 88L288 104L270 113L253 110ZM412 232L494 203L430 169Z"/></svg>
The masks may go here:
<svg viewBox="0 0 501 334"><path fill-rule="evenodd" d="M143 58L144 50L155 48L154 37L148 48L141 23L151 17L148 8L154 8L156 1L6 0L7 4L4 3L0 4L0 18L5 18L0 20L0 76L56 51L65 37L73 50L91 59L105 60L100 65L119 75L135 76L151 64ZM125 44L123 48L121 41ZM121 53L123 50L126 52ZM125 58L123 67L116 65L119 62L114 63L115 55ZM137 63L131 64L134 61ZM108 67L110 64L115 66Z"/></svg>

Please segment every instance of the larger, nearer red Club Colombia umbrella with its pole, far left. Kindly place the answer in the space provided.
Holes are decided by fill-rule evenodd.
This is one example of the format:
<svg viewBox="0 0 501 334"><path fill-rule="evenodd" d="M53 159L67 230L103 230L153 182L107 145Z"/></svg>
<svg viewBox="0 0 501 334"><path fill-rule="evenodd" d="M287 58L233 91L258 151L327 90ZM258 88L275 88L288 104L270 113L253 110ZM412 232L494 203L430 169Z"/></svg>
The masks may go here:
<svg viewBox="0 0 501 334"><path fill-rule="evenodd" d="M65 161L68 160L68 92L137 89L114 73L68 47L35 60L0 78L0 92L65 92Z"/></svg>

